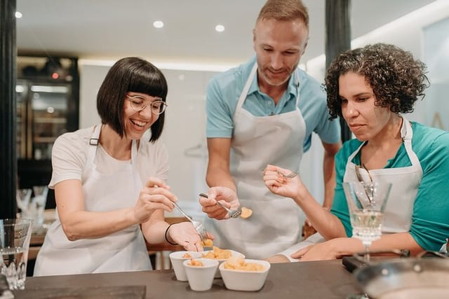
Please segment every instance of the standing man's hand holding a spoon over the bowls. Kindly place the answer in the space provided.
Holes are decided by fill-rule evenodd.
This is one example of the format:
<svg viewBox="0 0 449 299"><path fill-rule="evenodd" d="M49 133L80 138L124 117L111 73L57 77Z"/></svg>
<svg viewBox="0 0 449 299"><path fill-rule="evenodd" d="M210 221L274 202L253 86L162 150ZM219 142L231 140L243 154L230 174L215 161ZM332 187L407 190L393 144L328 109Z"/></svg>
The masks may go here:
<svg viewBox="0 0 449 299"><path fill-rule="evenodd" d="M217 220L229 218L229 214L225 209L217 204L217 201L221 200L229 209L239 209L240 202L234 190L227 187L212 187L208 190L208 198L199 197L199 203L203 207L203 212L208 214L210 218Z"/></svg>

